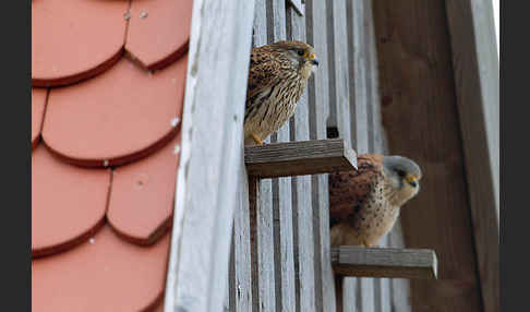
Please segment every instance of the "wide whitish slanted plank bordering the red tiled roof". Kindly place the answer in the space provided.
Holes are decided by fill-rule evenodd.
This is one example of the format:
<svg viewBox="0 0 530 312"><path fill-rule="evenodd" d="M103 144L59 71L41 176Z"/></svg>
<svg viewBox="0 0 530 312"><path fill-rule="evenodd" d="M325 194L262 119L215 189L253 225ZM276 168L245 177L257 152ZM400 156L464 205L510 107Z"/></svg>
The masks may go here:
<svg viewBox="0 0 530 312"><path fill-rule="evenodd" d="M166 312L224 305L253 15L254 1L193 5Z"/></svg>

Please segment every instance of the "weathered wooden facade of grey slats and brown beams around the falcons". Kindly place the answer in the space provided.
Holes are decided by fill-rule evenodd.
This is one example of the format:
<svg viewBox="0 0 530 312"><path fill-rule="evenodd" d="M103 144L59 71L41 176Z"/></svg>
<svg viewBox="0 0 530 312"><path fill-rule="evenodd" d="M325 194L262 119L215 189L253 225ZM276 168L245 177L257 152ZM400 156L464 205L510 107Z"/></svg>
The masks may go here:
<svg viewBox="0 0 530 312"><path fill-rule="evenodd" d="M195 0L165 311L499 311L498 60L479 32L493 27L485 2ZM245 153L250 48L281 39L312 45L318 71L268 149ZM393 249L371 254L374 267L395 265L386 272L329 248L323 172L354 166L349 148L424 171L383 239ZM433 249L439 271L432 251L405 248ZM365 277L335 276L342 261Z"/></svg>

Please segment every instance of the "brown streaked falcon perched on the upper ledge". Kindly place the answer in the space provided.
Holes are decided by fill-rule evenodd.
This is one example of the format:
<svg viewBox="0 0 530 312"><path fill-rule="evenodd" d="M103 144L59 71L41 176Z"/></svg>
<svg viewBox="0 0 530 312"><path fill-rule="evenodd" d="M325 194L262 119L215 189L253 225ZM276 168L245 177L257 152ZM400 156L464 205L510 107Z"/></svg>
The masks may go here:
<svg viewBox="0 0 530 312"><path fill-rule="evenodd" d="M244 145L263 144L294 113L318 65L313 47L278 41L252 49L244 110Z"/></svg>

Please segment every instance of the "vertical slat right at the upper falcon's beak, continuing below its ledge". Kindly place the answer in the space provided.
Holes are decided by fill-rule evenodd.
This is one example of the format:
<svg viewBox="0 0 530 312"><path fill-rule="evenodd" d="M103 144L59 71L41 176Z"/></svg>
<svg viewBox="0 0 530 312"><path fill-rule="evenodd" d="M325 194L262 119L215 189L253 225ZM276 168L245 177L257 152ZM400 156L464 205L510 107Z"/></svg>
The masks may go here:
<svg viewBox="0 0 530 312"><path fill-rule="evenodd" d="M309 84L310 139L326 137L328 116L326 3L306 0L305 25L308 43L315 48L318 71ZM312 176L313 226L315 240L316 311L335 311L335 287L329 254L329 199L327 175Z"/></svg>

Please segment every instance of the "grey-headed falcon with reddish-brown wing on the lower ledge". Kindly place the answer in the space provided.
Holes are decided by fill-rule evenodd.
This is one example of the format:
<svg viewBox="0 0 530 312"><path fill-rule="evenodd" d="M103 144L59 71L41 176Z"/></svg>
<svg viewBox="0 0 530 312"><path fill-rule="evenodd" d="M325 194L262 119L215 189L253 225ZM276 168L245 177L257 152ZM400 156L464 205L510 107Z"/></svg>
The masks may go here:
<svg viewBox="0 0 530 312"><path fill-rule="evenodd" d="M332 247L377 245L420 190L421 169L409 158L361 155L358 168L329 175Z"/></svg>

